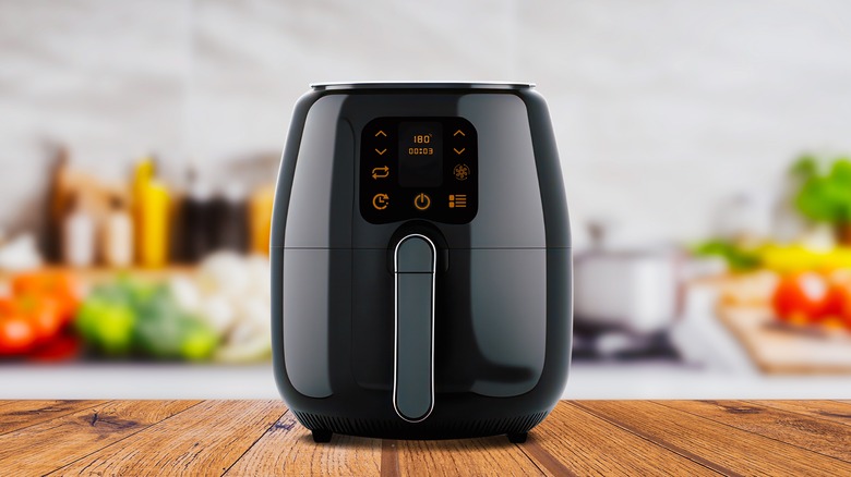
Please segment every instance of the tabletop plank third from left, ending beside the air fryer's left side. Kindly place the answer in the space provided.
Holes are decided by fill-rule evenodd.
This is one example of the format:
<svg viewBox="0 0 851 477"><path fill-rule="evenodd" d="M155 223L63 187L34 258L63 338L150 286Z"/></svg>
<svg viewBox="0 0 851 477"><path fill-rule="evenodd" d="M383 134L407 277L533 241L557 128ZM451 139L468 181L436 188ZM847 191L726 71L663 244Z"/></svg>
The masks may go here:
<svg viewBox="0 0 851 477"><path fill-rule="evenodd" d="M286 411L280 401L204 401L56 474L219 476Z"/></svg>

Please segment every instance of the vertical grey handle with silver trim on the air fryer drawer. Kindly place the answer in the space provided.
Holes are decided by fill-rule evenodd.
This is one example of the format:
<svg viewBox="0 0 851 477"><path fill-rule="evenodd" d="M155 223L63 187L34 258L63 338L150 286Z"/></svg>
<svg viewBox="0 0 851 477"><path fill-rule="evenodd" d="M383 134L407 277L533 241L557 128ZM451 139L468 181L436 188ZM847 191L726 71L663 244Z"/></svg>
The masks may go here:
<svg viewBox="0 0 851 477"><path fill-rule="evenodd" d="M409 423L424 420L434 407L435 262L425 235L406 235L396 245L393 407Z"/></svg>

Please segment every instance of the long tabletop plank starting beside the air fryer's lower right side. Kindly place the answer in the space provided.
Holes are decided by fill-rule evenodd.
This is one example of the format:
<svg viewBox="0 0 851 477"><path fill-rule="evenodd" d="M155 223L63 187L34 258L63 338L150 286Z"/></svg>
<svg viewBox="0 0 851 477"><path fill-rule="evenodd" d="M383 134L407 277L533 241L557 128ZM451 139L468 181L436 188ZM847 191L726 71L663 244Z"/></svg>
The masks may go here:
<svg viewBox="0 0 851 477"><path fill-rule="evenodd" d="M742 475L851 475L851 464L656 403L575 403L662 447ZM731 416L730 419L733 419Z"/></svg>

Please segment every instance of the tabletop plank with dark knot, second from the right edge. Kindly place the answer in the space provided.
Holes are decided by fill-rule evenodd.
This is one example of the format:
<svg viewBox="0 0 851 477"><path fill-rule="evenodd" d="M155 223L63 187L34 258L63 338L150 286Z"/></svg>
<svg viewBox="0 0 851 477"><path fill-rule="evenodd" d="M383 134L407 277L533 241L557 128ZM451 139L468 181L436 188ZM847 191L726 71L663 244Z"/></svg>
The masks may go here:
<svg viewBox="0 0 851 477"><path fill-rule="evenodd" d="M660 401L658 404L851 462L851 428L743 401Z"/></svg>

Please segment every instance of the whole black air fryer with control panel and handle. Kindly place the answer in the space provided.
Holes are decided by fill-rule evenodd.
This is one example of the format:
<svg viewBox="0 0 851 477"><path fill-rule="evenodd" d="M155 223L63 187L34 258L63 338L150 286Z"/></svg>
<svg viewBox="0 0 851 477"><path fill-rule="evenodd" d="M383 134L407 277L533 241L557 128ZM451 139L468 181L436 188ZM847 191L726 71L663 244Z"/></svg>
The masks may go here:
<svg viewBox="0 0 851 477"><path fill-rule="evenodd" d="M284 400L316 442L508 435L567 381L571 240L529 84L315 84L272 227Z"/></svg>

